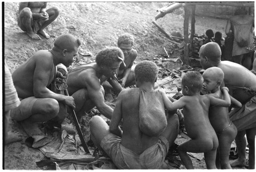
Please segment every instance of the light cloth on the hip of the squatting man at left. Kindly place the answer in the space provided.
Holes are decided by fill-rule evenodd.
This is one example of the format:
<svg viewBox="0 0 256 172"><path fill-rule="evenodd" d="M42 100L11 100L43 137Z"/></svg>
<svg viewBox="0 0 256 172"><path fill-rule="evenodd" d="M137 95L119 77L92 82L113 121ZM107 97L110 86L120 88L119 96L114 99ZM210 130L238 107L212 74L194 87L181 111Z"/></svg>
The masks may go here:
<svg viewBox="0 0 256 172"><path fill-rule="evenodd" d="M32 107L36 100L36 97L27 97L25 99L19 99L20 105L11 110L11 118L17 121L27 119L32 115Z"/></svg>

